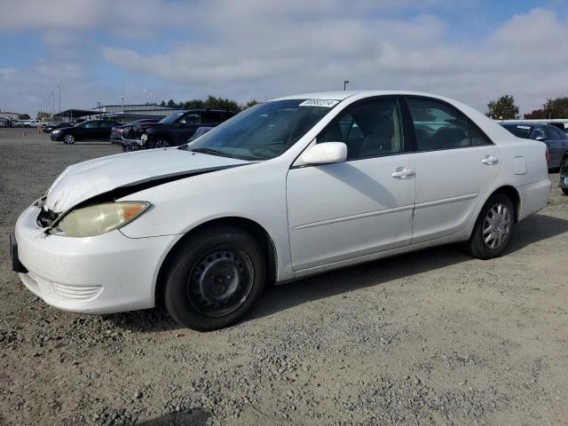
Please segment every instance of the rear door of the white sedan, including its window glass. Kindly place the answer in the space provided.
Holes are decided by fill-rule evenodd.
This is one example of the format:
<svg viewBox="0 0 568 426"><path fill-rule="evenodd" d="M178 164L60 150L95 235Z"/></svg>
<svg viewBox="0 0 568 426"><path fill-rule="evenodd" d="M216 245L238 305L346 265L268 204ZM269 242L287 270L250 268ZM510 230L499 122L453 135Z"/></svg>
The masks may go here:
<svg viewBox="0 0 568 426"><path fill-rule="evenodd" d="M413 244L457 233L501 170L501 149L454 106L406 98L416 148Z"/></svg>

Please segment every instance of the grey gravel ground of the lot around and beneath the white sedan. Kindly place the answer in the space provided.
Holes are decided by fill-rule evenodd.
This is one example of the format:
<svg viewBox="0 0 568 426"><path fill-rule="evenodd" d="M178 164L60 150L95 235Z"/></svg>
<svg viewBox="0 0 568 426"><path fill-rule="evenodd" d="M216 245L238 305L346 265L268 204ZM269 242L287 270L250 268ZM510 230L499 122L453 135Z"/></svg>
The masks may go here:
<svg viewBox="0 0 568 426"><path fill-rule="evenodd" d="M0 424L568 423L557 175L501 258L442 247L327 273L200 334L159 310L59 312L7 270L20 212L68 164L120 151L22 132L0 129Z"/></svg>

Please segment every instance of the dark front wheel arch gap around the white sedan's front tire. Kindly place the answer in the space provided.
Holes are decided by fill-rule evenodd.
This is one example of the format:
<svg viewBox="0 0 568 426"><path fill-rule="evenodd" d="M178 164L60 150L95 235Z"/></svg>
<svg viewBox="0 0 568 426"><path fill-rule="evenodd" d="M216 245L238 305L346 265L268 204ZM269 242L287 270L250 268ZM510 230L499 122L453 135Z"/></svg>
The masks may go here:
<svg viewBox="0 0 568 426"><path fill-rule="evenodd" d="M170 248L170 251L164 257L164 260L156 277L154 287L154 298L156 305L162 304L163 290L165 288L167 273L170 269L171 260L177 253L177 250L185 244L185 241L190 240L196 233L199 233L207 228L216 227L218 225L230 225L250 233L260 244L261 248L267 255L266 276L268 279L268 285L274 285L276 283L278 272L278 256L276 245L274 244L272 237L264 229L264 227L254 220L245 217L217 217L195 226L192 230L188 231L179 240L177 240L173 247Z"/></svg>

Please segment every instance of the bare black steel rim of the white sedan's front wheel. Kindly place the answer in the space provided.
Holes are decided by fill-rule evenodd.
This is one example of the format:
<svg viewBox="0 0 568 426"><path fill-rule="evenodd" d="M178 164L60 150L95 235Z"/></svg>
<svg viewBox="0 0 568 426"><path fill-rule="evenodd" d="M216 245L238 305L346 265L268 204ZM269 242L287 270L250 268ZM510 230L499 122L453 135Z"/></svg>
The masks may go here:
<svg viewBox="0 0 568 426"><path fill-rule="evenodd" d="M254 272L246 253L238 249L212 251L193 266L188 286L193 308L211 317L238 309L252 289Z"/></svg>

